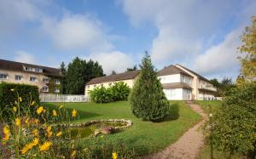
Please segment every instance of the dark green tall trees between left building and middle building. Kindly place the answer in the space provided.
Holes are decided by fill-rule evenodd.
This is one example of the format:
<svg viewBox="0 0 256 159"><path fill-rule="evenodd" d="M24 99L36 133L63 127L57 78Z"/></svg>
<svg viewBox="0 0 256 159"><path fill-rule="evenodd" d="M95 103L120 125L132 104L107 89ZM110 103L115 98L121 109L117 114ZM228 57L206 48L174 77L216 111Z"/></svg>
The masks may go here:
<svg viewBox="0 0 256 159"><path fill-rule="evenodd" d="M102 76L104 76L102 65L99 65L98 62L93 60L86 62L76 57L67 66L65 85L63 86L66 90L65 94L84 94L86 82Z"/></svg>

